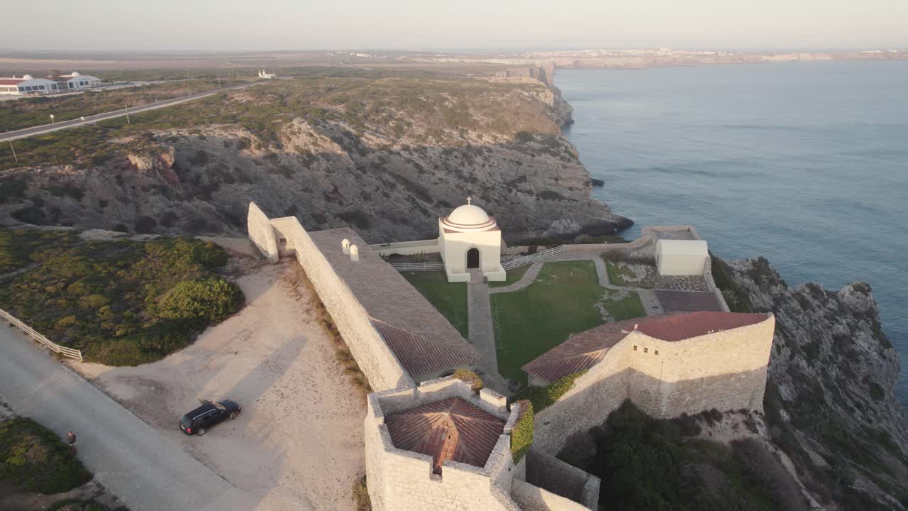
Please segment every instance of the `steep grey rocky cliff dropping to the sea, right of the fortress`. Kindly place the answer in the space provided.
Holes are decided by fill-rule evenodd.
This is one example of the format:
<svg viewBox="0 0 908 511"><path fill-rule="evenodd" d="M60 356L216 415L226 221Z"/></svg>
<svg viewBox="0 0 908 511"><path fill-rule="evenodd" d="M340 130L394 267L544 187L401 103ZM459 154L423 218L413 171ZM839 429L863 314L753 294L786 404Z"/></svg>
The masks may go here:
<svg viewBox="0 0 908 511"><path fill-rule="evenodd" d="M765 396L772 441L826 509L908 506L899 357L870 286L789 288L764 258L720 265L738 303L775 314Z"/></svg>

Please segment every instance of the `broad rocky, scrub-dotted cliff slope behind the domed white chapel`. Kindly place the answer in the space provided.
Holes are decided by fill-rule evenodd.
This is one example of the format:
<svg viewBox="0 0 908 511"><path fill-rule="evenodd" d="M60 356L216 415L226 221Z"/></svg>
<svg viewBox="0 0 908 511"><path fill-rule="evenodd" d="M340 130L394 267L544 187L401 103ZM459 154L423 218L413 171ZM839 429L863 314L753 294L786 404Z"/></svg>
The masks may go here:
<svg viewBox="0 0 908 511"><path fill-rule="evenodd" d="M340 98L341 87L324 86L314 99L302 87L299 97L287 91L292 84L262 85L219 105L280 108L266 130L252 122L153 128L125 134L99 165L7 170L0 180L13 185L0 197L0 222L243 235L254 200L308 229L352 225L379 242L438 235L437 217L472 195L508 240L630 224L590 198L587 170L559 132L569 105L539 82L344 85ZM269 103L277 93L278 107Z"/></svg>

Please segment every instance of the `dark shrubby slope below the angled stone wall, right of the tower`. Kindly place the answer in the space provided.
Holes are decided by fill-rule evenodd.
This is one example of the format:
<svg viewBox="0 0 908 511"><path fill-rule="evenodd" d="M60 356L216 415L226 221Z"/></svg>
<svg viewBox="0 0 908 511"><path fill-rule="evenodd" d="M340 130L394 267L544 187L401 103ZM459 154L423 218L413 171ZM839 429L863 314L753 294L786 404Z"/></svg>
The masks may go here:
<svg viewBox="0 0 908 511"><path fill-rule="evenodd" d="M573 463L601 478L600 504L627 511L808 509L759 442L725 446L696 437L699 427L689 423L654 419L627 401L590 432L592 456Z"/></svg>

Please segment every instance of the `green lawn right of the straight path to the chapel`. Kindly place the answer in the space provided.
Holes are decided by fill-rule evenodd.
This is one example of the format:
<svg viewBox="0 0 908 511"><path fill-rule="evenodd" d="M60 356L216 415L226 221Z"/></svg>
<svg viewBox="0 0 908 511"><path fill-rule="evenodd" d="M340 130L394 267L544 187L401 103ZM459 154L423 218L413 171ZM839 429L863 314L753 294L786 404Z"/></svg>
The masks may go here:
<svg viewBox="0 0 908 511"><path fill-rule="evenodd" d="M498 372L527 384L520 366L558 346L568 336L602 325L601 303L616 321L646 316L637 293L609 299L619 291L599 286L592 261L546 263L533 284L491 296Z"/></svg>

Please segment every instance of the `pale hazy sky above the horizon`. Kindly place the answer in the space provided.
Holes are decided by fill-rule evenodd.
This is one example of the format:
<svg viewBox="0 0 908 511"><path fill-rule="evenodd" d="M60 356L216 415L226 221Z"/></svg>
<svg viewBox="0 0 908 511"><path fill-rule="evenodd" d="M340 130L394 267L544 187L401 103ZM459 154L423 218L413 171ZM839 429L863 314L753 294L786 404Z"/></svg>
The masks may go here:
<svg viewBox="0 0 908 511"><path fill-rule="evenodd" d="M908 49L908 0L43 0L0 17L14 50Z"/></svg>

